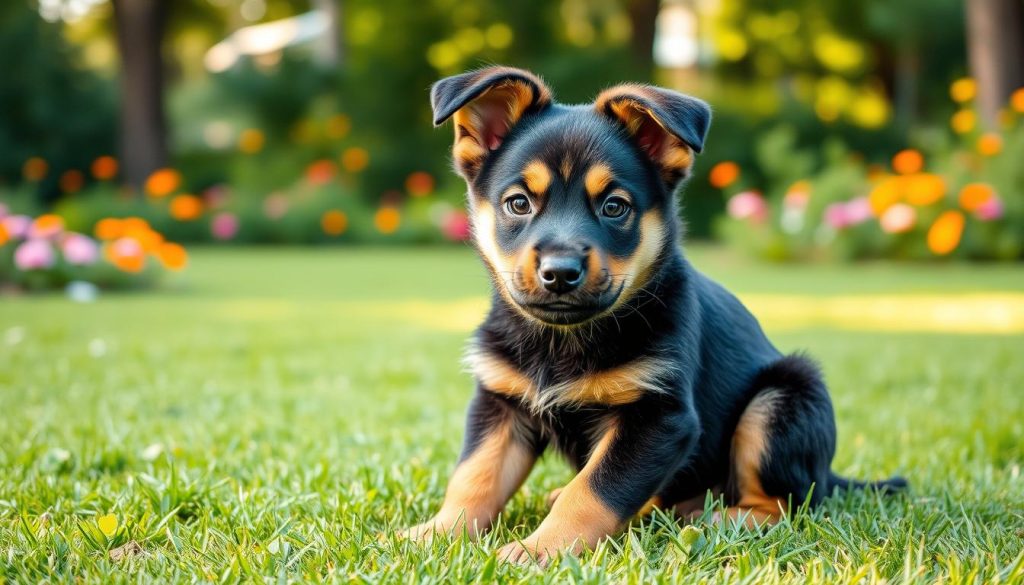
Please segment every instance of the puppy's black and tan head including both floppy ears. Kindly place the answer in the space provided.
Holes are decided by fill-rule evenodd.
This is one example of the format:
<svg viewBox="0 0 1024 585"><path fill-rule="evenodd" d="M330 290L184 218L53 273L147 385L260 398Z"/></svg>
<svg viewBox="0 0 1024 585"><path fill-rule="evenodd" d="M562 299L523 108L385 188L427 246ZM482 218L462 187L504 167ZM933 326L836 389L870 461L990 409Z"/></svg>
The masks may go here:
<svg viewBox="0 0 1024 585"><path fill-rule="evenodd" d="M522 314L562 326L608 314L675 246L673 194L703 147L702 101L621 85L562 106L503 67L443 79L431 101L434 124L455 122L476 247Z"/></svg>

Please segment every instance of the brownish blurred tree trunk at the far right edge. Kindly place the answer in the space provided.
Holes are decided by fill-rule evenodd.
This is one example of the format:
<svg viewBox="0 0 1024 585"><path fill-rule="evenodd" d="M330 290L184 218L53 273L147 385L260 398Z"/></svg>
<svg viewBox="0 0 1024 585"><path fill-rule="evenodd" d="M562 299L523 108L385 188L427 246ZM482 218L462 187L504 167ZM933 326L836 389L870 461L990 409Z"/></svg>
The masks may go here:
<svg viewBox="0 0 1024 585"><path fill-rule="evenodd" d="M967 43L978 110L984 124L994 128L1010 94L1024 86L1024 3L968 0Z"/></svg>

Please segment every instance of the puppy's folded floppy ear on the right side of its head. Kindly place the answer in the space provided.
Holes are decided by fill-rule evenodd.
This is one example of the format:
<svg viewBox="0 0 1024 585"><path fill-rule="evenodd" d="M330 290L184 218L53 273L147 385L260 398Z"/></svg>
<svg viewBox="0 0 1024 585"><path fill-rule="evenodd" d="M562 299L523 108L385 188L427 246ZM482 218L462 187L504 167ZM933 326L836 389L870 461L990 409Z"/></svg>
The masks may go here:
<svg viewBox="0 0 1024 585"><path fill-rule="evenodd" d="M711 109L703 101L649 85L617 85L602 91L594 108L622 124L675 189L703 150Z"/></svg>

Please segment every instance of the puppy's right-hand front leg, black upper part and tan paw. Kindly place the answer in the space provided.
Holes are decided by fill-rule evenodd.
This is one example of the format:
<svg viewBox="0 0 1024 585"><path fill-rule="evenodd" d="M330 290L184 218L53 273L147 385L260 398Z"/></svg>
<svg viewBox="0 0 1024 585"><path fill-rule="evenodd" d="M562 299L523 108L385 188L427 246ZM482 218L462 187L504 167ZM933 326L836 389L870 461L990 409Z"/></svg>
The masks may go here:
<svg viewBox="0 0 1024 585"><path fill-rule="evenodd" d="M499 558L546 565L614 534L689 457L697 437L692 410L632 405L614 416L586 465L558 494L534 534L505 545Z"/></svg>

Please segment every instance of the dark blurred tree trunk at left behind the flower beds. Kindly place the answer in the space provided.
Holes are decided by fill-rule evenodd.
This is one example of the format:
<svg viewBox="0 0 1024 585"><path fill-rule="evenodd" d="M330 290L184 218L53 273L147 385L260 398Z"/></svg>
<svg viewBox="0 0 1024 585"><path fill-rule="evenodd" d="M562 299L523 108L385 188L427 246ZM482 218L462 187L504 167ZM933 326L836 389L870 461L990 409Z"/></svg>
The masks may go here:
<svg viewBox="0 0 1024 585"><path fill-rule="evenodd" d="M153 171L167 166L164 61L168 0L113 0L121 54L121 169L141 192Z"/></svg>

